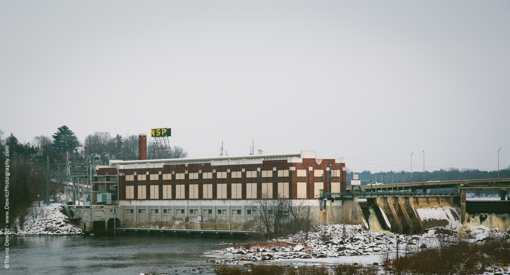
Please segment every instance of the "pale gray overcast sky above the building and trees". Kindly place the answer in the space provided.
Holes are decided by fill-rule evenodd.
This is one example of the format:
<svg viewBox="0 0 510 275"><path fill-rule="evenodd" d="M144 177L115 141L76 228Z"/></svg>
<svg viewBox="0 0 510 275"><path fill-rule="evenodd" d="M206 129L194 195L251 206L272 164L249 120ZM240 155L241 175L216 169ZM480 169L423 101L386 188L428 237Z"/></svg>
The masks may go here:
<svg viewBox="0 0 510 275"><path fill-rule="evenodd" d="M508 1L1 1L0 129L172 128L190 157L510 165Z"/></svg>

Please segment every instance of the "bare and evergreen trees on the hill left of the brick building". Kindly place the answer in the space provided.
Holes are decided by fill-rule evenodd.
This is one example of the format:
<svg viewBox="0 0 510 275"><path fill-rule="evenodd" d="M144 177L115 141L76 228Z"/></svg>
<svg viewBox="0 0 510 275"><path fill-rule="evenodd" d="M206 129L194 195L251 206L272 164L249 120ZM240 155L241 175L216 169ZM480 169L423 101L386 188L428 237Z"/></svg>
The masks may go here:
<svg viewBox="0 0 510 275"><path fill-rule="evenodd" d="M108 132L95 132L85 137L83 143L67 126L57 129L52 136L39 135L32 142L21 143L11 133L0 130L0 163L6 162L6 148L9 149L9 224L6 224L6 212L0 211L0 228L23 224L28 209L39 199L46 198L46 159L50 164L67 161L83 163L94 161L96 164L108 164L109 160L138 160L138 136L112 136ZM180 146L157 148L152 142L147 144L147 157L185 158L188 153ZM57 169L62 169L58 167ZM4 170L4 167L3 169ZM6 185L6 173L0 173L2 190ZM58 181L50 182L50 198L56 198L64 192L65 185ZM5 206L6 198L0 203Z"/></svg>

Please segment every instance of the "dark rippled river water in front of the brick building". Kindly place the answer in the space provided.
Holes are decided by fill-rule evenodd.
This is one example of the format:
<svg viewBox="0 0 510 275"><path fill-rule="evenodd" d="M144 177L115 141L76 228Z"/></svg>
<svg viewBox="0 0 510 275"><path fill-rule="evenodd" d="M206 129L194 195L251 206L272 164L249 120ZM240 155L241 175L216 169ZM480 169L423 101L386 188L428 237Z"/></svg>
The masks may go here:
<svg viewBox="0 0 510 275"><path fill-rule="evenodd" d="M224 248L222 241L230 242L164 236L17 236L10 239L9 268L0 273L190 274L199 268L209 274L214 273L213 264L203 253Z"/></svg>

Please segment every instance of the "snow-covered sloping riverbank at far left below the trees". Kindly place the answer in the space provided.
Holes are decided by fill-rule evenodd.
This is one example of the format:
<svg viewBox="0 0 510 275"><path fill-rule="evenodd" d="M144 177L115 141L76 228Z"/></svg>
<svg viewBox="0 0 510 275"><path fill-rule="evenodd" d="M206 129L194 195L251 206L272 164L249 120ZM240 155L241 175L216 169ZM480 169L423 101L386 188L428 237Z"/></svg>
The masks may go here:
<svg viewBox="0 0 510 275"><path fill-rule="evenodd" d="M82 230L75 227L69 218L61 212L61 206L46 206L42 215L34 218L28 217L22 227L17 226L9 235L70 235L82 234ZM0 230L0 235L5 235Z"/></svg>

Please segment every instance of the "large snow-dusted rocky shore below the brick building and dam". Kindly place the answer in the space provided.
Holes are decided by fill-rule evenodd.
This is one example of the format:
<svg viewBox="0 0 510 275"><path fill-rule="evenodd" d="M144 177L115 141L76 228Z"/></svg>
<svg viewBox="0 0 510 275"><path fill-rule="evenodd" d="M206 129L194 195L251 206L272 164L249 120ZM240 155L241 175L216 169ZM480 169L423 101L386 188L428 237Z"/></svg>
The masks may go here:
<svg viewBox="0 0 510 275"><path fill-rule="evenodd" d="M344 233L345 229L345 233ZM395 251L395 237L397 234L390 232L372 232L362 229L361 225L332 224L329 226L317 226L315 232L309 233L308 240L304 240L304 233L300 232L289 237L273 239L267 244L242 245L243 247L227 247L221 251L215 251L213 255L218 259L211 260L217 263L237 261L282 261L294 260L296 262L304 259L313 259L323 263L338 263L353 261L353 257L360 256L362 262L379 262L380 255L387 249L392 253ZM418 247L425 244L433 246L432 236L423 237L399 236L403 241L399 245L400 251L416 251ZM326 241L322 241L326 240ZM274 243L274 245L272 245ZM422 246L423 247L423 246ZM361 257L363 256L363 257ZM222 259L221 259L222 258ZM310 261L310 260L308 260Z"/></svg>

